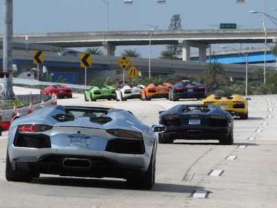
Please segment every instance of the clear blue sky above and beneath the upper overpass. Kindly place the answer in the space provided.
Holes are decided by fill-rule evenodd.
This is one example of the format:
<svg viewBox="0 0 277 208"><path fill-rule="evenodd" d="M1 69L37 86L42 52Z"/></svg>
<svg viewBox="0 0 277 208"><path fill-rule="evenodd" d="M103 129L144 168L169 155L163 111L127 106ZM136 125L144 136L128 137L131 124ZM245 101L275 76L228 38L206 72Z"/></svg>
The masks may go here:
<svg viewBox="0 0 277 208"><path fill-rule="evenodd" d="M109 2L109 31L143 31L150 29L144 24L158 25L160 30L168 29L172 15L181 15L183 29L210 29L210 25L236 23L240 28L262 28L262 14L250 14L249 10L263 11L264 0L166 0L157 4L156 0L133 0L132 5L124 0ZM14 33L52 33L79 31L106 31L107 6L102 0L14 0ZM276 0L266 0L266 13L277 17ZM3 11L3 0L0 0ZM0 28L3 28L3 12ZM266 19L267 28L276 25ZM3 33L1 31L0 33ZM31 37L29 37L31 42ZM242 48L249 45L244 44ZM258 45L251 46L258 47ZM238 44L233 45L239 48ZM116 55L124 49L136 49L142 58L148 58L147 46L118 46ZM166 49L166 46L163 46ZM193 49L192 52L196 49ZM212 50L220 50L213 45ZM152 47L152 57L159 57L161 46Z"/></svg>

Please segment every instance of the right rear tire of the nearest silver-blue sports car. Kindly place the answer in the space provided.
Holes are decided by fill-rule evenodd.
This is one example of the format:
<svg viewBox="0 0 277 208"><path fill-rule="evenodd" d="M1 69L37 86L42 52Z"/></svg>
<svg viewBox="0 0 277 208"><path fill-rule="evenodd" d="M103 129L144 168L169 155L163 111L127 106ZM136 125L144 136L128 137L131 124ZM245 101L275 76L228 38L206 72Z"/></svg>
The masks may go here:
<svg viewBox="0 0 277 208"><path fill-rule="evenodd" d="M156 175L156 154L154 153L154 149L152 150L150 164L148 166L148 170L146 171L143 177L128 177L127 184L129 187L137 187L139 189L150 190L152 189L155 183L155 175Z"/></svg>

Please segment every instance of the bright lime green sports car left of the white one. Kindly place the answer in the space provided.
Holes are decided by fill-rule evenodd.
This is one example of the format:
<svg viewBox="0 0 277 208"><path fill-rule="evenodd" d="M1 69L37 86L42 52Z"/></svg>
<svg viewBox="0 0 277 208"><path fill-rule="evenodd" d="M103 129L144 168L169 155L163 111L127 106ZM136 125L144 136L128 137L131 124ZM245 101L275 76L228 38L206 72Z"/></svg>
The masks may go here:
<svg viewBox="0 0 277 208"><path fill-rule="evenodd" d="M111 86L91 87L84 92L84 101L96 101L97 99L116 99L116 89Z"/></svg>

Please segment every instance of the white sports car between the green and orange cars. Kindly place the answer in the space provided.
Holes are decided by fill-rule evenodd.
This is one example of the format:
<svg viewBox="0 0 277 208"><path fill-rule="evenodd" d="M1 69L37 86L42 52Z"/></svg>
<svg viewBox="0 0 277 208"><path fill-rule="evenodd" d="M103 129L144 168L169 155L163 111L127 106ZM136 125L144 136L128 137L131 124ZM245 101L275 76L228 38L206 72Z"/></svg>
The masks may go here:
<svg viewBox="0 0 277 208"><path fill-rule="evenodd" d="M144 85L124 85L116 90L116 101L127 101L127 99L141 98L141 89Z"/></svg>

